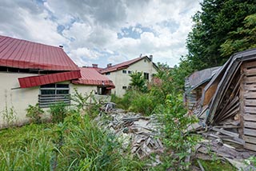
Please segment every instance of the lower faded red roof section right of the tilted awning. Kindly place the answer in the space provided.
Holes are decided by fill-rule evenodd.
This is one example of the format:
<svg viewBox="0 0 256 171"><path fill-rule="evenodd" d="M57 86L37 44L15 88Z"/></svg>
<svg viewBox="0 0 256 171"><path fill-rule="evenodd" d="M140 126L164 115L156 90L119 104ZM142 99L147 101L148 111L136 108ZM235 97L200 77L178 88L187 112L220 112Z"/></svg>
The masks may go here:
<svg viewBox="0 0 256 171"><path fill-rule="evenodd" d="M74 84L105 85L114 88L113 82L106 76L99 74L95 68L80 68L82 78L72 81Z"/></svg>

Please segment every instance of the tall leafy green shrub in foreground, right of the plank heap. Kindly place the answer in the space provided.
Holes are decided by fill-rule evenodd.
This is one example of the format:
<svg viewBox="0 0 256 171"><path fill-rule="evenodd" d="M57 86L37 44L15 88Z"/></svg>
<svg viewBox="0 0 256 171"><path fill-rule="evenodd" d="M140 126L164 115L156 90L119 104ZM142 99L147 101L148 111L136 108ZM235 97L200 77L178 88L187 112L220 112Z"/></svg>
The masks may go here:
<svg viewBox="0 0 256 171"><path fill-rule="evenodd" d="M181 169L181 166L190 165L184 159L189 155L188 150L198 143L198 136L187 133L189 125L197 122L194 115L186 114L186 109L182 104L182 95L167 95L166 104L159 105L155 110L158 113L158 120L162 123L162 132L165 135L164 143L167 149L174 152L170 159L164 164L168 167Z"/></svg>

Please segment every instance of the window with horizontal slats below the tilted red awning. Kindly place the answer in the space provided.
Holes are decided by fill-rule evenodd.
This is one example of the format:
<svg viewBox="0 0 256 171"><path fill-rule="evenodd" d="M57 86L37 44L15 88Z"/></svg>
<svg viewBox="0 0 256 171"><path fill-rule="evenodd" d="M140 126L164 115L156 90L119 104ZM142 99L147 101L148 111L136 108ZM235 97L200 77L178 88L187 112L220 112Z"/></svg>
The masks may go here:
<svg viewBox="0 0 256 171"><path fill-rule="evenodd" d="M70 105L70 85L69 84L48 84L40 86L38 103L40 107L50 107L58 102Z"/></svg>

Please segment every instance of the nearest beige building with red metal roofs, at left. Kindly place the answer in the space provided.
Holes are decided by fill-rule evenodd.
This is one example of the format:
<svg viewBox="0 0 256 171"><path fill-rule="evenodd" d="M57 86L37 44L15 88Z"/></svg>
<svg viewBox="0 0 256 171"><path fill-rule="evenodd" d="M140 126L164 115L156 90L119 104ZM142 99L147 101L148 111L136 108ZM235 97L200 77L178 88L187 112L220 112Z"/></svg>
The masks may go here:
<svg viewBox="0 0 256 171"><path fill-rule="evenodd" d="M94 90L100 96L114 88L96 70L79 68L62 47L6 36L0 36L0 78L0 127L10 114L18 124L27 121L29 105L48 108L58 101L69 105L74 89Z"/></svg>

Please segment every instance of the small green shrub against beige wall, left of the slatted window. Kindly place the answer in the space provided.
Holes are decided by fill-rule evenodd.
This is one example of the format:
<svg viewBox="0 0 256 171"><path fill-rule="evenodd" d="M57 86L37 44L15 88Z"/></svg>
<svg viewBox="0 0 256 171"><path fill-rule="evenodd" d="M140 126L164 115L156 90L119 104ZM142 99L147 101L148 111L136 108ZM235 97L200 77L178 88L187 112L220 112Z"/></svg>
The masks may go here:
<svg viewBox="0 0 256 171"><path fill-rule="evenodd" d="M26 117L30 117L30 121L33 123L41 123L43 114L44 111L39 107L38 103L36 105L29 105L26 108Z"/></svg>

